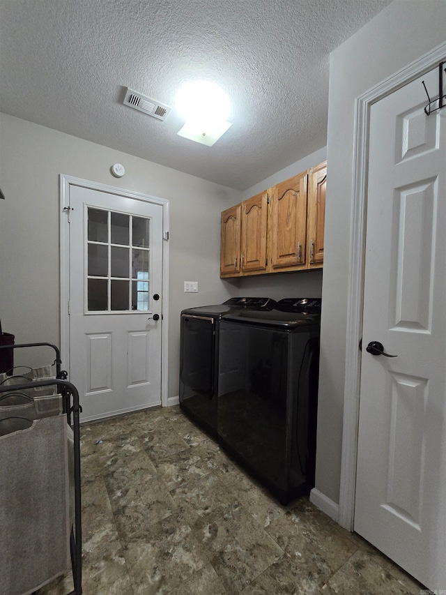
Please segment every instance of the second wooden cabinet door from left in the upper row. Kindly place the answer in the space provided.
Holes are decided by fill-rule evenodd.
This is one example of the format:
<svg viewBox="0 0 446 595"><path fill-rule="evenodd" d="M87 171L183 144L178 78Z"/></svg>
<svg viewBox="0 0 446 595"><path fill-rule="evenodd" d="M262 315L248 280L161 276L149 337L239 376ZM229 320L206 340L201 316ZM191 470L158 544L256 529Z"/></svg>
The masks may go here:
<svg viewBox="0 0 446 595"><path fill-rule="evenodd" d="M266 271L267 216L266 192L242 203L242 273Z"/></svg>

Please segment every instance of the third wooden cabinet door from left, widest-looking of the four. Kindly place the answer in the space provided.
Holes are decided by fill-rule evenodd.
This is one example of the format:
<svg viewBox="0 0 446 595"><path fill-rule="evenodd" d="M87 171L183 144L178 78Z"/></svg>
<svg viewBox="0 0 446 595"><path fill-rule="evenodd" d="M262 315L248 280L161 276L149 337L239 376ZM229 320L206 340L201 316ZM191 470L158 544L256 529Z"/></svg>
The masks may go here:
<svg viewBox="0 0 446 595"><path fill-rule="evenodd" d="M272 188L270 255L272 270L305 268L307 172Z"/></svg>

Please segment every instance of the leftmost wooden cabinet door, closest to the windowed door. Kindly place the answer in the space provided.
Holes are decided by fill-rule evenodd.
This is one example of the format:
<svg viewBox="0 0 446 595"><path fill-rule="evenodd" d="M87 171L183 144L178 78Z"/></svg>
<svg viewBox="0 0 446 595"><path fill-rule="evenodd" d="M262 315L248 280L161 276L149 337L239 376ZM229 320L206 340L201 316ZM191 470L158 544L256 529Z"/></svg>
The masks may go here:
<svg viewBox="0 0 446 595"><path fill-rule="evenodd" d="M236 204L222 212L222 235L220 243L220 276L233 277L240 274L240 226L242 205Z"/></svg>

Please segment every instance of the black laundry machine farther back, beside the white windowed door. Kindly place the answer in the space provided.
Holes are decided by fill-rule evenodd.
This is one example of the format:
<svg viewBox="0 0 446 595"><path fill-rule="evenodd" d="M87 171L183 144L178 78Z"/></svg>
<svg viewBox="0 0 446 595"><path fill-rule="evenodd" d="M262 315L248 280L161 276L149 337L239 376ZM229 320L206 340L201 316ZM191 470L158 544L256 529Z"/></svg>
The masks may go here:
<svg viewBox="0 0 446 595"><path fill-rule="evenodd" d="M180 408L202 428L217 435L217 385L220 322L229 313L272 310L269 298L238 297L222 304L181 312Z"/></svg>

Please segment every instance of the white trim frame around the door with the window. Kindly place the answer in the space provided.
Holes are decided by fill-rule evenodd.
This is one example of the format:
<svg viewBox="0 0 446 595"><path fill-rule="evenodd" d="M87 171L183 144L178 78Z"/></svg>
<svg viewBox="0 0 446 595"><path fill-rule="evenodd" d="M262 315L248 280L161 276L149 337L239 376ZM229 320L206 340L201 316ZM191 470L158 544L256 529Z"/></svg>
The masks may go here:
<svg viewBox="0 0 446 595"><path fill-rule="evenodd" d="M61 359L64 366L70 366L70 319L68 315L68 300L70 298L70 234L68 217L70 214L70 186L80 186L89 190L98 190L132 198L142 202L150 202L162 206L162 334L161 334L161 404L169 405L169 200L151 195L124 190L100 182L75 178L65 174L59 175L60 195L60 322L61 322ZM68 377L69 378L69 377Z"/></svg>

